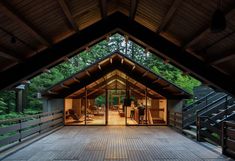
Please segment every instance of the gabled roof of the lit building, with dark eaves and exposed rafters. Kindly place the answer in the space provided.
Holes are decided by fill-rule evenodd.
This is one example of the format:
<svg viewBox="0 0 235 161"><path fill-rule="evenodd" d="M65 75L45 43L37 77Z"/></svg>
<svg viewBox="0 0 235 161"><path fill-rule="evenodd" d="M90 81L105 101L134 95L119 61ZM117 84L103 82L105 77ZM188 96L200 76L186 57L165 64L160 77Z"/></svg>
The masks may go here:
<svg viewBox="0 0 235 161"><path fill-rule="evenodd" d="M112 81L116 84L112 84ZM134 88L140 93L147 87L150 90L148 95L152 98L183 99L191 96L183 89L119 52L114 52L68 79L59 82L47 89L42 95L54 98L82 97L84 87L97 90L101 87L103 89L108 88L109 85L112 87L113 85L123 84L128 85L122 87Z"/></svg>

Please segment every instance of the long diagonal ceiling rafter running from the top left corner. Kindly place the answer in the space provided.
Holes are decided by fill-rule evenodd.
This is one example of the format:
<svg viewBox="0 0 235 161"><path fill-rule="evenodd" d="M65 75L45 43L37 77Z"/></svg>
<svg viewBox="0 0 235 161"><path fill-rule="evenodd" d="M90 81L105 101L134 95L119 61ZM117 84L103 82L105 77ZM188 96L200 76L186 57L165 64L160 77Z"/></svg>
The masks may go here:
<svg viewBox="0 0 235 161"><path fill-rule="evenodd" d="M5 1L0 1L0 10L3 14L7 15L25 30L30 32L32 36L35 36L35 38L37 38L41 43L46 46L50 46L50 42L45 37L43 37L42 34L24 17L20 16L20 14L15 9L13 9L8 3L6 3Z"/></svg>

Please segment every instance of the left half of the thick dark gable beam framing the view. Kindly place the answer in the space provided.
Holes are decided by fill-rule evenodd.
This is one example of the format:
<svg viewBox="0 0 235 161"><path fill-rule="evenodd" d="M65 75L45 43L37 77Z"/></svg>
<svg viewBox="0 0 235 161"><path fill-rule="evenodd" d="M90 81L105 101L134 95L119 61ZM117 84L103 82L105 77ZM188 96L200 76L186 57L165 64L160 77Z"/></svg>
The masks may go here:
<svg viewBox="0 0 235 161"><path fill-rule="evenodd" d="M74 51L82 50L87 44L101 40L104 35L116 30L117 23L114 14L114 16L107 17L104 21L99 21L81 32L73 34L65 39L66 43L65 41L58 42L27 59L27 61L5 70L0 75L0 89L12 87L21 80L32 78L45 67L51 67L57 64L58 60L72 55ZM18 73L18 71L21 71L21 73L13 74Z"/></svg>

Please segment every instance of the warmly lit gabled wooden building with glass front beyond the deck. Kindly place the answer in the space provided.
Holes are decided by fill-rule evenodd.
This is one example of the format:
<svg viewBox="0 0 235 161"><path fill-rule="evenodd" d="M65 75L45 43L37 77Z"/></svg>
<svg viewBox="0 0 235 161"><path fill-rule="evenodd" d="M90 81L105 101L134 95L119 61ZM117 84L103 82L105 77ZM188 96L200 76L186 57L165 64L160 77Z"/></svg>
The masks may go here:
<svg viewBox="0 0 235 161"><path fill-rule="evenodd" d="M182 100L191 95L114 52L47 89L42 96L44 112L63 108L68 125L166 125L168 112L181 112ZM141 104L145 108L142 122Z"/></svg>

